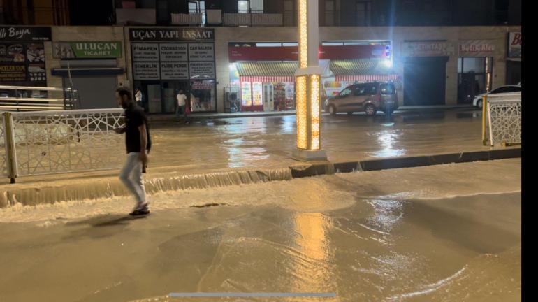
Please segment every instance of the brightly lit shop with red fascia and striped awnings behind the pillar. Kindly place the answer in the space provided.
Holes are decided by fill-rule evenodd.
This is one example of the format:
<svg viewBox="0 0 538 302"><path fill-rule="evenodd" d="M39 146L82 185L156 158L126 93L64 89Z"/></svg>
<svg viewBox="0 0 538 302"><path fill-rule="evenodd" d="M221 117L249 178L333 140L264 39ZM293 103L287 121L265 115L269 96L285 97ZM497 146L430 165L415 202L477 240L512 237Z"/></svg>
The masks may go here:
<svg viewBox="0 0 538 302"><path fill-rule="evenodd" d="M295 109L297 43L228 43L231 90L239 92L240 110ZM390 41L331 41L321 45L323 94L333 96L356 82L397 80Z"/></svg>

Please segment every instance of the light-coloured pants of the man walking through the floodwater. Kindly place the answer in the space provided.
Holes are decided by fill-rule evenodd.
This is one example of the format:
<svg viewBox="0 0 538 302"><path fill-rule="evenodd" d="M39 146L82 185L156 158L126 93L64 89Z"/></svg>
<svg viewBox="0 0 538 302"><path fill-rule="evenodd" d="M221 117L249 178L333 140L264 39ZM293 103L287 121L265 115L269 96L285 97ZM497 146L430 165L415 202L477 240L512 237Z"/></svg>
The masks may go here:
<svg viewBox="0 0 538 302"><path fill-rule="evenodd" d="M142 180L142 161L140 161L140 152L130 152L127 154L127 160L119 173L119 179L122 180L125 187L131 191L136 198L136 209L147 206L146 189Z"/></svg>

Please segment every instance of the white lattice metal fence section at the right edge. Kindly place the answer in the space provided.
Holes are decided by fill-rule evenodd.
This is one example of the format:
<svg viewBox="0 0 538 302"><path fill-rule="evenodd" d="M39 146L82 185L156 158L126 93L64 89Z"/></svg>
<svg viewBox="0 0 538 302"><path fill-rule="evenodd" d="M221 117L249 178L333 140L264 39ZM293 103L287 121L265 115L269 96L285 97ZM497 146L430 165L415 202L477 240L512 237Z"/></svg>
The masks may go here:
<svg viewBox="0 0 538 302"><path fill-rule="evenodd" d="M521 144L521 92L487 96L490 145Z"/></svg>

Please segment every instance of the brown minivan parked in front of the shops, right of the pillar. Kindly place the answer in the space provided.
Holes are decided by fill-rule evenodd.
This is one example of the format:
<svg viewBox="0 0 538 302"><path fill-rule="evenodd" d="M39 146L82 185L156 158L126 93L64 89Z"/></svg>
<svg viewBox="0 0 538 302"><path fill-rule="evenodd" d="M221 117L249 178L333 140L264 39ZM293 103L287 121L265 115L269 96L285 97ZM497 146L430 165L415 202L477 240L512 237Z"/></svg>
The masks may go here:
<svg viewBox="0 0 538 302"><path fill-rule="evenodd" d="M336 113L365 112L366 115L375 115L377 111L388 108L392 111L398 109L398 96L392 82L370 82L354 84L343 89L337 96L326 100L325 110L330 115Z"/></svg>

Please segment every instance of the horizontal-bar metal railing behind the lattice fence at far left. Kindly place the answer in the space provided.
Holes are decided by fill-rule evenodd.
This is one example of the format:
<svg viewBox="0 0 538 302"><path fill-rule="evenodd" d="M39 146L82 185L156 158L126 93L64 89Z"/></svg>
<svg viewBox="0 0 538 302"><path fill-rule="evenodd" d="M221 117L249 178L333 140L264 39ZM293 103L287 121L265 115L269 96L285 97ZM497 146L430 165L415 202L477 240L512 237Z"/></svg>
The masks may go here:
<svg viewBox="0 0 538 302"><path fill-rule="evenodd" d="M78 101L71 88L0 85L0 111L71 110Z"/></svg>

